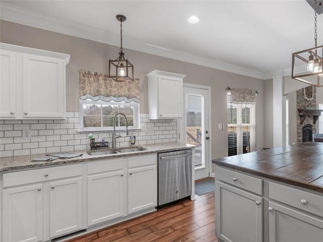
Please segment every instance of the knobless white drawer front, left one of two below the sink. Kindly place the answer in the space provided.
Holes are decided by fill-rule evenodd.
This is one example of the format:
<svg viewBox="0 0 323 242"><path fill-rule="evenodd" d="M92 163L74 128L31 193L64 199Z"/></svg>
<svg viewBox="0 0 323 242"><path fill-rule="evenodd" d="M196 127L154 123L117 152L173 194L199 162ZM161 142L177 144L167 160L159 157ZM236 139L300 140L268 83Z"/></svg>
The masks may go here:
<svg viewBox="0 0 323 242"><path fill-rule="evenodd" d="M124 166L123 158L89 162L87 165L87 173L94 174L94 173L100 173L105 171L122 170L123 166Z"/></svg>

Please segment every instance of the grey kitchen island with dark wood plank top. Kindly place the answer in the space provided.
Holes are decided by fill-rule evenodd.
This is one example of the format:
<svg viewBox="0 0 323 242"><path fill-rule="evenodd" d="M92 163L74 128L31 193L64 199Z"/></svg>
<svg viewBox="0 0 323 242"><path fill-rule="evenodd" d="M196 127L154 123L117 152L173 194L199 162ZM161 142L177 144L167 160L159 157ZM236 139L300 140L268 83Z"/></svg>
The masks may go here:
<svg viewBox="0 0 323 242"><path fill-rule="evenodd" d="M323 241L323 143L212 162L219 241Z"/></svg>

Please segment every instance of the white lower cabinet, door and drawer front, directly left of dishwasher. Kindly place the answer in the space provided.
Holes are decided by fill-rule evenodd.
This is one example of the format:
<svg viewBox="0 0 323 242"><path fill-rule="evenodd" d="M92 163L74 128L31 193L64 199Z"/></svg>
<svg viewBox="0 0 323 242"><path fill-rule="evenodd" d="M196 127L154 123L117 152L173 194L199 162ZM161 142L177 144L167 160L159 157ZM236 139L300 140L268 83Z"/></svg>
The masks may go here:
<svg viewBox="0 0 323 242"><path fill-rule="evenodd" d="M157 206L157 156L128 159L128 213Z"/></svg>

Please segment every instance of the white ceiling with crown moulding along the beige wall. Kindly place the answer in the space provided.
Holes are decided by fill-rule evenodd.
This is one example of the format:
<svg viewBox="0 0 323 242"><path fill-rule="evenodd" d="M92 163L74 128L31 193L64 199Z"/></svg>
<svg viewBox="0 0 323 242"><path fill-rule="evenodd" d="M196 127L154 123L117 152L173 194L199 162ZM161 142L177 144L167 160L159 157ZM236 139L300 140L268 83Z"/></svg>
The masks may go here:
<svg viewBox="0 0 323 242"><path fill-rule="evenodd" d="M261 79L289 74L292 53L314 47L314 11L305 0L1 0L0 11L4 20L117 46L123 14L125 48ZM191 15L200 22L189 24ZM320 45L323 14L317 27Z"/></svg>

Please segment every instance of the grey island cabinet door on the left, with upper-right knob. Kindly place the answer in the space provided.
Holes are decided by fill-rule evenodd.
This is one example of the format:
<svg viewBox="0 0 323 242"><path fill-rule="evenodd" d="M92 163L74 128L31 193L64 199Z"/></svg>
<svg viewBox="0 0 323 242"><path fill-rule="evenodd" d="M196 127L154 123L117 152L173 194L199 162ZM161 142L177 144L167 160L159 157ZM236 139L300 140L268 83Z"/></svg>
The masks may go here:
<svg viewBox="0 0 323 242"><path fill-rule="evenodd" d="M224 241L262 241L262 198L217 181L216 234Z"/></svg>

